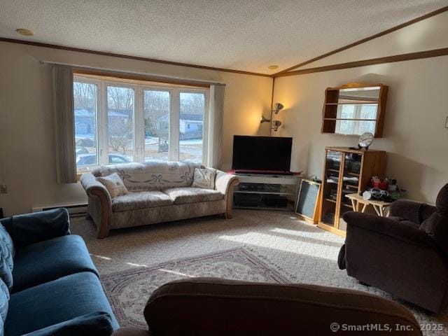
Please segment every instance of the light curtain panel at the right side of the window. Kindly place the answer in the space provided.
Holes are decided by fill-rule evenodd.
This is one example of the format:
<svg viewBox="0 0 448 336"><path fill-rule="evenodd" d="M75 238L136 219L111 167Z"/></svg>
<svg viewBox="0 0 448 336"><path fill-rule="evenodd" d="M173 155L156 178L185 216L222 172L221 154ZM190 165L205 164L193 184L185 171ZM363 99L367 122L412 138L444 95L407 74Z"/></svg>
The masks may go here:
<svg viewBox="0 0 448 336"><path fill-rule="evenodd" d="M207 166L216 169L221 169L223 163L224 89L225 85L210 86Z"/></svg>

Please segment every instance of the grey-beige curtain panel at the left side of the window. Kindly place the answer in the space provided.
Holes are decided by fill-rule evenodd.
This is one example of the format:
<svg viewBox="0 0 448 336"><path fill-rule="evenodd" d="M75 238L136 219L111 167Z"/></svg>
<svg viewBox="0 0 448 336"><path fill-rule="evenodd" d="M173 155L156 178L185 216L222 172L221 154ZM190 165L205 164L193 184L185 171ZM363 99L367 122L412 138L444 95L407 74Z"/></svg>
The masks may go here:
<svg viewBox="0 0 448 336"><path fill-rule="evenodd" d="M70 66L52 66L52 87L57 183L76 183L73 71Z"/></svg>

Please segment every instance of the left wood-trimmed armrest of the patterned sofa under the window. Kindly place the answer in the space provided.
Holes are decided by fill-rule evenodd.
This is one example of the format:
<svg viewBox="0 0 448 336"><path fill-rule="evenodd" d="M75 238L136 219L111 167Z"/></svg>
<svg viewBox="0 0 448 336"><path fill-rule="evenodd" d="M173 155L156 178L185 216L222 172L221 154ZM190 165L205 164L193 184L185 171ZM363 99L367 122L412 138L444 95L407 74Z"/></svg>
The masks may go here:
<svg viewBox="0 0 448 336"><path fill-rule="evenodd" d="M112 198L106 187L92 173L84 173L80 177L81 186L89 197L89 214L97 225L97 237L105 238L109 235L112 216ZM94 202L94 200L97 202ZM98 209L99 208L99 209ZM92 214L94 212L94 214Z"/></svg>

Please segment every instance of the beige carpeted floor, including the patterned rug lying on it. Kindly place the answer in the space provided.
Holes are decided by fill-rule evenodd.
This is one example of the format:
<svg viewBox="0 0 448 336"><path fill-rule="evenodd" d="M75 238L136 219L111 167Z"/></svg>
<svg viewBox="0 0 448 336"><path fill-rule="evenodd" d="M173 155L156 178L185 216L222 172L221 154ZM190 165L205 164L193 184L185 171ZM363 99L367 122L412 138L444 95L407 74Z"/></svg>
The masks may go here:
<svg viewBox="0 0 448 336"><path fill-rule="evenodd" d="M115 230L102 240L91 221L73 218L72 232L85 239L123 325L141 325L138 315L160 284L200 275L363 290L404 304L420 323L445 325L443 332L423 335L448 335L448 314L428 315L347 276L336 261L344 239L292 213L237 210L231 220L212 216Z"/></svg>

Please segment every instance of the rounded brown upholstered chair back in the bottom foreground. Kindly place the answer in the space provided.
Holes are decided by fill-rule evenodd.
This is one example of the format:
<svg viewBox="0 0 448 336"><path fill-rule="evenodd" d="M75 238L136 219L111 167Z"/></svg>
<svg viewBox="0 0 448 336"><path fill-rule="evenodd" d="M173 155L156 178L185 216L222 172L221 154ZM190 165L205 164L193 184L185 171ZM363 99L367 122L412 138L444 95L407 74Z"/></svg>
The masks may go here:
<svg viewBox="0 0 448 336"><path fill-rule="evenodd" d="M337 328L346 335L349 325L384 329L375 335L421 335L409 310L382 297L342 288L212 278L166 283L149 298L144 317L149 330L125 327L113 336L337 335ZM396 332L396 325L406 331Z"/></svg>

